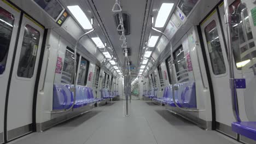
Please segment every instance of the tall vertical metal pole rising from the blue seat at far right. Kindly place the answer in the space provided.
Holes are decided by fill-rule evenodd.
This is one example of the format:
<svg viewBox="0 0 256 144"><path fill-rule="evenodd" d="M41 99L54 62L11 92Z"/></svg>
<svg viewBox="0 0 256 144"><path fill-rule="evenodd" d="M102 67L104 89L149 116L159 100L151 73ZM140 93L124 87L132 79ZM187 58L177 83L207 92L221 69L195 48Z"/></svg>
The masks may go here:
<svg viewBox="0 0 256 144"><path fill-rule="evenodd" d="M236 121L241 122L237 97L236 97L236 84L234 77L234 65L233 65L233 55L232 55L232 41L231 41L231 15L229 13L229 2L224 0L224 9L225 9L225 25L226 25L226 35L227 35L227 48L228 48L228 60L229 60L229 76L230 76L230 89L231 89L231 100L232 100L232 110Z"/></svg>

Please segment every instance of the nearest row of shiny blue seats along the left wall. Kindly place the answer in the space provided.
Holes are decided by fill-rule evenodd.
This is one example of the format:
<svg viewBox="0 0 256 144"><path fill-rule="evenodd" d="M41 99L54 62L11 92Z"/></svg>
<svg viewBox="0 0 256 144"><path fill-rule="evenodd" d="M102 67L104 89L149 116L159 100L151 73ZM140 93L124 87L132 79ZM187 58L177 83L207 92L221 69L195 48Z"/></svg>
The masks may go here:
<svg viewBox="0 0 256 144"><path fill-rule="evenodd" d="M74 88L74 85L67 85L61 83L54 84L53 110L65 110L69 109L73 105L74 93L71 91L71 88ZM77 86L75 96L75 104L73 108L98 103L103 100L94 98L92 88L85 86Z"/></svg>

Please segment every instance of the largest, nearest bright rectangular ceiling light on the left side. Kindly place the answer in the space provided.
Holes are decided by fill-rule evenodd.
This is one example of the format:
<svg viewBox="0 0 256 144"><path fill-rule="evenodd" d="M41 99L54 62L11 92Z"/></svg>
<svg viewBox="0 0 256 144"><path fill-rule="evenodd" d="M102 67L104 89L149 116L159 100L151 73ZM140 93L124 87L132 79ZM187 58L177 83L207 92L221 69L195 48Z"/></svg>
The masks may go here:
<svg viewBox="0 0 256 144"><path fill-rule="evenodd" d="M84 29L92 29L91 22L78 5L68 6L67 8Z"/></svg>

